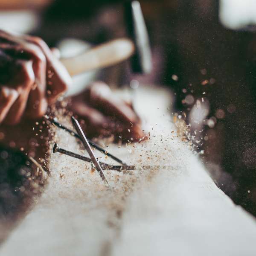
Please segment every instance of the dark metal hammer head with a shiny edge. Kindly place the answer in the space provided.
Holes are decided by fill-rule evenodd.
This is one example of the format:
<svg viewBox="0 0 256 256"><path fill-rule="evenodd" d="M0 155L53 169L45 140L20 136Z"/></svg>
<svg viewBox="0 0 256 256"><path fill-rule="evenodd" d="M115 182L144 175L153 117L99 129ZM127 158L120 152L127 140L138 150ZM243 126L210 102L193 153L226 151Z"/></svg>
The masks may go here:
<svg viewBox="0 0 256 256"><path fill-rule="evenodd" d="M128 35L135 45L135 52L131 57L132 71L134 73L150 73L152 69L151 48L139 1L125 3L125 23Z"/></svg>

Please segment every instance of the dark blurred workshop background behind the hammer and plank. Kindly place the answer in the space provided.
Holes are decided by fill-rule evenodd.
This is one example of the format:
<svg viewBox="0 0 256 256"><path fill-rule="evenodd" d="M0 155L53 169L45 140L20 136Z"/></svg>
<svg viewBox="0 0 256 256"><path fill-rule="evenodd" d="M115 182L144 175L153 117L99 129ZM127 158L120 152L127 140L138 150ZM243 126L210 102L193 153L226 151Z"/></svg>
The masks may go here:
<svg viewBox="0 0 256 256"><path fill-rule="evenodd" d="M127 36L124 2L0 0L0 28L38 35L67 57ZM74 81L169 87L175 94L171 112L189 125L189 140L217 185L256 216L256 3L141 0L140 4L152 48L152 72L134 75L123 62Z"/></svg>

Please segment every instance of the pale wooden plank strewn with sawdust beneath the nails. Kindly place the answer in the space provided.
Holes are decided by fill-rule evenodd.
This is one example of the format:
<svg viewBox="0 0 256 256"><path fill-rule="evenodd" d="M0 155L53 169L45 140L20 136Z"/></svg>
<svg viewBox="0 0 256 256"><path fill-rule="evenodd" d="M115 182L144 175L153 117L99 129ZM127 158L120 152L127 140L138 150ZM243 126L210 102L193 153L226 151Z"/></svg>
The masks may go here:
<svg viewBox="0 0 256 256"><path fill-rule="evenodd" d="M128 164L163 168L105 171L115 187L108 190L90 163L52 154L44 193L0 255L256 255L255 219L215 185L200 157L177 136L169 91L137 90L135 108L150 139L109 144L107 150ZM86 155L76 138L55 132L62 148Z"/></svg>

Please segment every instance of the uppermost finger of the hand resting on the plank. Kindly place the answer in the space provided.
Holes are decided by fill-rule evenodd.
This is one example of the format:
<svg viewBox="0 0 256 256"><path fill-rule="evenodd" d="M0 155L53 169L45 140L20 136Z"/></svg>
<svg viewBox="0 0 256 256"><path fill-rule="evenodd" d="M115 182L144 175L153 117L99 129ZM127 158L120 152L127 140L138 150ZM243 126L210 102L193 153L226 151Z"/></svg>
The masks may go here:
<svg viewBox="0 0 256 256"><path fill-rule="evenodd" d="M114 96L110 88L103 82L95 82L87 91L90 105L102 111L106 116L114 116L122 122L132 124L140 122L134 110L124 101Z"/></svg>

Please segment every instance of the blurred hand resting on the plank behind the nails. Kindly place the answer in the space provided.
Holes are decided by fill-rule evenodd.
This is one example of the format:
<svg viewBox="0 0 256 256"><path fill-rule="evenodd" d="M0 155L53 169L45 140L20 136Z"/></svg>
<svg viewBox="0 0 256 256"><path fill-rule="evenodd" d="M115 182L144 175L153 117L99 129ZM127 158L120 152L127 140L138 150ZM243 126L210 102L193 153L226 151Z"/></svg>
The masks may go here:
<svg viewBox="0 0 256 256"><path fill-rule="evenodd" d="M113 134L116 141L133 142L146 138L132 105L114 95L103 82L94 82L83 94L73 97L72 110L88 137Z"/></svg>

